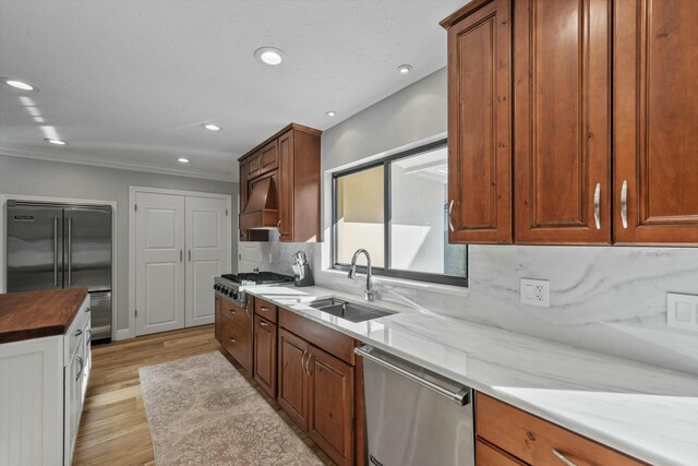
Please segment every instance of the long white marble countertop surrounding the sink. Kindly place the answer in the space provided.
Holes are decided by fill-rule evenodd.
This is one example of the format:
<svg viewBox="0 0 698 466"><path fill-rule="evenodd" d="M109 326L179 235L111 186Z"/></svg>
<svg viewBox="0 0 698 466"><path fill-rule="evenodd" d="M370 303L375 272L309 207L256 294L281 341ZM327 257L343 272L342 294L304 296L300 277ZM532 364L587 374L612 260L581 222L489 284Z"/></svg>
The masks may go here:
<svg viewBox="0 0 698 466"><path fill-rule="evenodd" d="M361 302L327 288L246 291L645 462L698 464L698 377L385 302L353 323L308 306Z"/></svg>

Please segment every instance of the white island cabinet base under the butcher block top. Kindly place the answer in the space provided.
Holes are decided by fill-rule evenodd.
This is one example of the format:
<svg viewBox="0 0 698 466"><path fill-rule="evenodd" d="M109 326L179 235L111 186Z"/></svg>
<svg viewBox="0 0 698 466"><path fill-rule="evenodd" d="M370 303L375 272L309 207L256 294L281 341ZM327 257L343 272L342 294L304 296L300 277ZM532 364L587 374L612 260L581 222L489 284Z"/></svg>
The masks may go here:
<svg viewBox="0 0 698 466"><path fill-rule="evenodd" d="M92 362L89 325L85 296L64 333L0 344L0 466L72 463Z"/></svg>

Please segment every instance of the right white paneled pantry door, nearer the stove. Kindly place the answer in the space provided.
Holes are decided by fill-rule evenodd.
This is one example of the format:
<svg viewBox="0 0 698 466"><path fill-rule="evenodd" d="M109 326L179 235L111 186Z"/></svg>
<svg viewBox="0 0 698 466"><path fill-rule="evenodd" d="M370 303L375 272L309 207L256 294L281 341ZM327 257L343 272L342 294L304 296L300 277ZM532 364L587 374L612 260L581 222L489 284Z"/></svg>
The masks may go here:
<svg viewBox="0 0 698 466"><path fill-rule="evenodd" d="M228 202L186 196L185 326L214 323L214 277L230 273Z"/></svg>

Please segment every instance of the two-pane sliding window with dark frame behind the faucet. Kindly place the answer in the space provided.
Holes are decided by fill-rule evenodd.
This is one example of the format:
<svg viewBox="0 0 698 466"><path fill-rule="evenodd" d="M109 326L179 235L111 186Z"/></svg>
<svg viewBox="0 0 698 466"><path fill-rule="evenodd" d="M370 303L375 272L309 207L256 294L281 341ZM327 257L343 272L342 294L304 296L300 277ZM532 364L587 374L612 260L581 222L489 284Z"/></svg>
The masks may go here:
<svg viewBox="0 0 698 466"><path fill-rule="evenodd" d="M448 243L447 181L445 141L335 174L335 268L363 248L376 275L467 286L468 249Z"/></svg>

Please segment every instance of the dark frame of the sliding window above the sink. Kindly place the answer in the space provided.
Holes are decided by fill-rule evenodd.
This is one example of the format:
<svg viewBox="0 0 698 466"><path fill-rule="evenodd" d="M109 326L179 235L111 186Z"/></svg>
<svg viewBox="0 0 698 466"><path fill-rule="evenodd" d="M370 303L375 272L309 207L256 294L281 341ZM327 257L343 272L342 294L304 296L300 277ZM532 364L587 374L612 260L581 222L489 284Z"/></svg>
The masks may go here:
<svg viewBox="0 0 698 466"><path fill-rule="evenodd" d="M470 275L470 267L468 263L469 251L466 246L466 276L458 277L454 275L443 275L443 274L431 274L426 272L412 272L412 271L402 271L397 268L390 268L390 224L392 224L392 182L390 182L390 166L395 160L399 160L401 158L411 157L418 154L431 152L434 150L443 148L447 146L447 140L438 140L429 144L420 145L418 147L413 147L407 151L399 152L397 154L389 155L387 157L381 158L378 160L368 162L365 164L358 165L356 167L351 167L346 170L336 171L332 174L332 268L338 271L348 272L350 264L342 264L337 261L337 180L341 177L357 174L360 171L364 171L371 168L383 166L383 254L384 254L384 267L372 267L372 272L374 275L392 277L392 278L401 278L417 282L428 282L435 283L441 285L452 285L459 287L468 287L468 276ZM364 265L358 265L357 270L363 274L366 273L366 267Z"/></svg>

